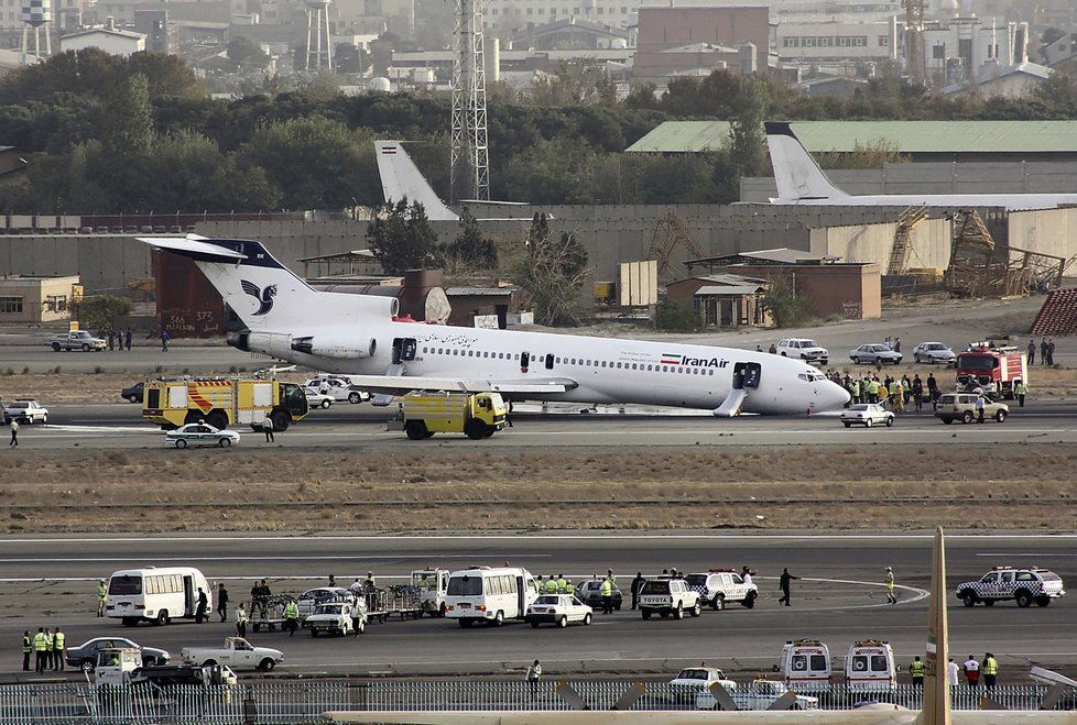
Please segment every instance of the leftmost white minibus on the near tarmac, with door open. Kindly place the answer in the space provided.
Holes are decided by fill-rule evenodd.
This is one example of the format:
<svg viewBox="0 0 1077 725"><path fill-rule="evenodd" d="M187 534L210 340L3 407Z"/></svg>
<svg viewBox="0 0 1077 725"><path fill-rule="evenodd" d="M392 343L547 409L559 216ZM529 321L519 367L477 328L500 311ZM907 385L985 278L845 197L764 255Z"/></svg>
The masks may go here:
<svg viewBox="0 0 1077 725"><path fill-rule="evenodd" d="M105 615L128 627L140 622L165 625L173 619L194 619L198 590L206 593L206 611L214 611L214 592L206 575L193 567L122 569L112 574L105 600Z"/></svg>

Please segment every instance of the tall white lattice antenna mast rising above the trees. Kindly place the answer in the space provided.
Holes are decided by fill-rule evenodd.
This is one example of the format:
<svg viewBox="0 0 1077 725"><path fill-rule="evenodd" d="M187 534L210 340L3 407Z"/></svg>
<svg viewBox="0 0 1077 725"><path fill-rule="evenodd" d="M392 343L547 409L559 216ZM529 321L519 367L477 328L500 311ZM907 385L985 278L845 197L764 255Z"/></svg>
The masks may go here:
<svg viewBox="0 0 1077 725"><path fill-rule="evenodd" d="M453 62L453 166L449 202L490 200L487 150L486 67L482 55L483 0L455 0Z"/></svg>

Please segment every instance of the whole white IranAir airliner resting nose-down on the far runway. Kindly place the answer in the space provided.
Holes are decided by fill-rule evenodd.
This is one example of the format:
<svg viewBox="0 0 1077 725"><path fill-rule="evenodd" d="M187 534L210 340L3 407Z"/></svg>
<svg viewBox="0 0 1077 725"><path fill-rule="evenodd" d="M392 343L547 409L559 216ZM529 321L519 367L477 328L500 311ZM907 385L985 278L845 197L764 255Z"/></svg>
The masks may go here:
<svg viewBox="0 0 1077 725"><path fill-rule="evenodd" d="M191 257L247 326L229 343L346 373L398 395L499 392L510 400L645 404L739 413L840 408L844 387L801 361L731 348L394 321L392 297L319 292L257 241L140 238Z"/></svg>

